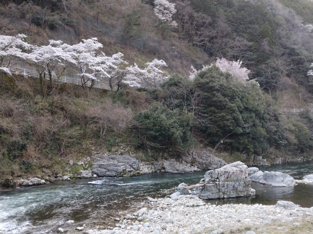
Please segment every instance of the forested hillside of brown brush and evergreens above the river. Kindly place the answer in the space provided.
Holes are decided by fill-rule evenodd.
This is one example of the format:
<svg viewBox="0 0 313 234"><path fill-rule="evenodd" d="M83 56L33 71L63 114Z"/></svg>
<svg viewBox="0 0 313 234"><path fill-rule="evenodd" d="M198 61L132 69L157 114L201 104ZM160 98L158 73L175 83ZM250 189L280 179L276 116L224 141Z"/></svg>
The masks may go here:
<svg viewBox="0 0 313 234"><path fill-rule="evenodd" d="M115 93L68 84L52 88L51 82L3 72L2 178L47 168L62 173L69 158L121 147L145 160L208 146L247 160L311 157L312 113L282 115L278 108L312 108L313 2L170 1L170 18L158 15L158 2L167 1L1 2L0 35L23 33L36 46L50 39L78 45L96 37L103 45L98 54L121 52L147 76L149 62L162 60L168 77L160 85L142 82L139 89L123 86ZM20 65L36 69L36 63L28 58ZM68 66L64 74L77 71Z"/></svg>

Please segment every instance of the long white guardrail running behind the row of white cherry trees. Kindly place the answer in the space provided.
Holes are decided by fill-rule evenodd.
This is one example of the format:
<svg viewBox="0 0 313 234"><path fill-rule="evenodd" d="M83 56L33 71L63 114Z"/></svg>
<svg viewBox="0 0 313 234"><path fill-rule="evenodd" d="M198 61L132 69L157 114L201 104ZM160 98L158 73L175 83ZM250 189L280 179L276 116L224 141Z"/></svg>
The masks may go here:
<svg viewBox="0 0 313 234"><path fill-rule="evenodd" d="M20 67L10 67L9 70L12 74L16 74L18 76L32 77L32 78L36 78L36 79L39 78L39 72L38 71L28 70L28 69L24 69L24 68L20 68ZM46 76L46 79L49 80L49 77ZM57 79L55 79L55 80L57 80ZM70 83L70 84L74 84L74 85L81 85L81 80L75 79L72 77L67 77L67 76L60 76L59 83ZM91 82L88 81L86 83L86 85L88 87L90 87ZM98 89L111 90L110 85L100 83L97 81L93 87L98 88ZM116 90L116 88L114 87L113 90Z"/></svg>

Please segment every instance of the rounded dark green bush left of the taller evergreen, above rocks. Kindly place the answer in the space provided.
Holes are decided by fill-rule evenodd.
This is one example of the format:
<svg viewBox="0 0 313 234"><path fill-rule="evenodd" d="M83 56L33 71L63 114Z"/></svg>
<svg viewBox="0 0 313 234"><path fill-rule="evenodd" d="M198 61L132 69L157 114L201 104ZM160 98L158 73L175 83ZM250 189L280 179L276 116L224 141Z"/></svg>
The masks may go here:
<svg viewBox="0 0 313 234"><path fill-rule="evenodd" d="M192 115L179 114L161 103L153 103L136 117L141 144L146 148L189 149Z"/></svg>

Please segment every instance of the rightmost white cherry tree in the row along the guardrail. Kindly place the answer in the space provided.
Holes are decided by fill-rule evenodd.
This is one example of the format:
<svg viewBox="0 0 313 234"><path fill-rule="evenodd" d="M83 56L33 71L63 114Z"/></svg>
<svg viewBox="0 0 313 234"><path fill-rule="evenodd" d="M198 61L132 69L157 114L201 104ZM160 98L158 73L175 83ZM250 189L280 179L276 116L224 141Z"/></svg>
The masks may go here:
<svg viewBox="0 0 313 234"><path fill-rule="evenodd" d="M156 85L162 83L162 81L167 80L168 77L164 76L164 72L160 69L163 66L167 66L166 62L158 59L154 59L152 62L146 63L145 70L148 73L146 77L146 83L156 87Z"/></svg>

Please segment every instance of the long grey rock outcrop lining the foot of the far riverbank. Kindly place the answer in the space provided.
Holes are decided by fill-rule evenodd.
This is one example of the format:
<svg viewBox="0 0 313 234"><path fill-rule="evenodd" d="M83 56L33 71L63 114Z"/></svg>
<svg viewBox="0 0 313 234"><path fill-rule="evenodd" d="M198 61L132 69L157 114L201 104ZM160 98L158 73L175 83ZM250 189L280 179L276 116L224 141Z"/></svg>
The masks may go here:
<svg viewBox="0 0 313 234"><path fill-rule="evenodd" d="M159 162L139 162L129 155L96 154L92 171L81 171L82 178L90 178L90 174L98 177L129 177L140 174L149 174L157 171L169 173L190 173L204 169L220 168L226 165L221 158L215 157L207 151L186 152L180 158L160 160Z"/></svg>

